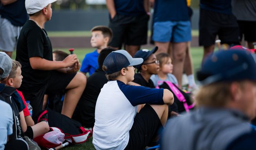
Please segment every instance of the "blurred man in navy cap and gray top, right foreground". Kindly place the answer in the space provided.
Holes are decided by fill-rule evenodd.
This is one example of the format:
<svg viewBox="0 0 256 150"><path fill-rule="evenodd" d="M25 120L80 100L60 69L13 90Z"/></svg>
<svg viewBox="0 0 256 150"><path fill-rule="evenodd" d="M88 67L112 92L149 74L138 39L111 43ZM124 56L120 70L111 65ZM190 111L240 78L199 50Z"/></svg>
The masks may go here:
<svg viewBox="0 0 256 150"><path fill-rule="evenodd" d="M199 109L166 124L162 149L251 150L256 114L256 63L244 50L219 51L197 73ZM178 136L177 136L178 135Z"/></svg>

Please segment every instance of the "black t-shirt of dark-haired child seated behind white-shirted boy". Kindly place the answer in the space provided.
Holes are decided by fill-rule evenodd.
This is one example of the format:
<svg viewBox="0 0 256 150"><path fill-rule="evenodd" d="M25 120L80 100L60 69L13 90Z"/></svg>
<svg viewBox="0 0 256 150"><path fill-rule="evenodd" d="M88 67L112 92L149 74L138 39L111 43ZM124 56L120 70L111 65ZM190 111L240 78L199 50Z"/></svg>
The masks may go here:
<svg viewBox="0 0 256 150"><path fill-rule="evenodd" d="M108 82L105 72L98 68L88 79L84 92L77 104L74 119L85 127L93 127L95 122L95 106L98 95L104 84ZM108 106L106 106L108 107Z"/></svg>

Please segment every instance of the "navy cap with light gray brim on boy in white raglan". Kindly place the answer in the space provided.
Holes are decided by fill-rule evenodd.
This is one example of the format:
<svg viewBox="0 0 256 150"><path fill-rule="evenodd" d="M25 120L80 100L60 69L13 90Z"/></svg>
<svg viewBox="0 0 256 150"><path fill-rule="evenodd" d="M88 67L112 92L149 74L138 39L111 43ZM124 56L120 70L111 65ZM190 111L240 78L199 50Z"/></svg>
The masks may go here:
<svg viewBox="0 0 256 150"><path fill-rule="evenodd" d="M132 58L126 50L113 51L107 55L103 65L107 67L106 74L120 71L127 66L135 66L143 62L142 58Z"/></svg>

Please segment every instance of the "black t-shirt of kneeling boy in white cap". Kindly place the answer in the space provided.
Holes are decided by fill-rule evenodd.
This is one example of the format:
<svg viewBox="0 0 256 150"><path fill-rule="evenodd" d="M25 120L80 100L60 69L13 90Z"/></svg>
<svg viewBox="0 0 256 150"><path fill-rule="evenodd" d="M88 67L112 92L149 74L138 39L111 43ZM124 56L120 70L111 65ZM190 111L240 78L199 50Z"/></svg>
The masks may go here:
<svg viewBox="0 0 256 150"><path fill-rule="evenodd" d="M51 41L44 29L28 20L21 29L17 43L16 61L22 65L22 90L32 90L47 83L50 71L34 70L29 58L41 57L53 61Z"/></svg>

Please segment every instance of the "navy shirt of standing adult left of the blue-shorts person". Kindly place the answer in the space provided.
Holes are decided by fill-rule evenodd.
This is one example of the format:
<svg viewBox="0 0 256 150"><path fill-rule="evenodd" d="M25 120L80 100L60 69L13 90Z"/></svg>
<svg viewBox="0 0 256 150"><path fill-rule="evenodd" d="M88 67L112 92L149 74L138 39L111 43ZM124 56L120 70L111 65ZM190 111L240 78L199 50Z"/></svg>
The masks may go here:
<svg viewBox="0 0 256 150"><path fill-rule="evenodd" d="M114 0L116 13L126 16L145 14L143 0Z"/></svg>

